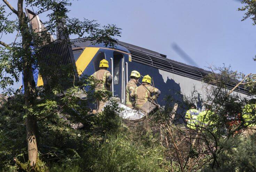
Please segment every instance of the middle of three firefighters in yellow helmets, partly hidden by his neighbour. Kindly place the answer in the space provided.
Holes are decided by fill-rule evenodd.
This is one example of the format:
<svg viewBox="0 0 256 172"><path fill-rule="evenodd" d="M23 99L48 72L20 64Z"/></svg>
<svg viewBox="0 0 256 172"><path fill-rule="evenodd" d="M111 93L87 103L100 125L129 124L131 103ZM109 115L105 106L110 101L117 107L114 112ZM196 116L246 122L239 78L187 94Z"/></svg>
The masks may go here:
<svg viewBox="0 0 256 172"><path fill-rule="evenodd" d="M140 78L140 73L136 70L131 72L130 75L130 80L127 83L126 87L125 87L125 105L131 109L134 108L135 106L135 99L133 99L133 97L131 97L133 91L135 90L135 88L137 88L137 84Z"/></svg>

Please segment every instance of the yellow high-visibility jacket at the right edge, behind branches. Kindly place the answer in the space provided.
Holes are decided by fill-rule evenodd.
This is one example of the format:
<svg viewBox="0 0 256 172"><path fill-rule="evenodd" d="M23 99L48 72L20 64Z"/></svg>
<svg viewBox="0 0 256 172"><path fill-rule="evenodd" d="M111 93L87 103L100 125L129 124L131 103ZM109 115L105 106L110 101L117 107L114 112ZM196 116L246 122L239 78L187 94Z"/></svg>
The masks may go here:
<svg viewBox="0 0 256 172"><path fill-rule="evenodd" d="M252 120L255 119L255 115L256 115L256 111L254 111L254 114L253 114L253 109L256 108L256 104L247 104L245 105L245 107L243 108L243 119L245 120L245 124L248 126L248 127L254 127L256 126L256 122L255 123L251 123ZM251 124L250 124L251 123Z"/></svg>

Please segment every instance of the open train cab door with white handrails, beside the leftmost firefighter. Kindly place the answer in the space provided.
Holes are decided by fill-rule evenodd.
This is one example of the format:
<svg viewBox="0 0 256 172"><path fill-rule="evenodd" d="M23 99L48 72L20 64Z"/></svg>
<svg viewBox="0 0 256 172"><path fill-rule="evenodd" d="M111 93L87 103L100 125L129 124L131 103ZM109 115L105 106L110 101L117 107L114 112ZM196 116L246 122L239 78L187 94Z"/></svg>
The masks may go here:
<svg viewBox="0 0 256 172"><path fill-rule="evenodd" d="M113 96L119 97L121 103L125 103L125 75L124 75L124 55L119 52L113 53L111 60L111 73L113 76L112 92Z"/></svg>

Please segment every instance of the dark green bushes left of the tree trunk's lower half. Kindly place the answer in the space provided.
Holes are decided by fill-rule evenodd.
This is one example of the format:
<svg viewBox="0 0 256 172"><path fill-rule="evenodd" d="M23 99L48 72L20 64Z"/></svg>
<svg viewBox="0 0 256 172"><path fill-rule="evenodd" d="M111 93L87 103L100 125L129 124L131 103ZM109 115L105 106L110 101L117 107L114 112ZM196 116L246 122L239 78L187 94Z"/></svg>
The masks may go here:
<svg viewBox="0 0 256 172"><path fill-rule="evenodd" d="M0 110L0 169L11 169L13 158L26 156L23 96L13 97Z"/></svg>

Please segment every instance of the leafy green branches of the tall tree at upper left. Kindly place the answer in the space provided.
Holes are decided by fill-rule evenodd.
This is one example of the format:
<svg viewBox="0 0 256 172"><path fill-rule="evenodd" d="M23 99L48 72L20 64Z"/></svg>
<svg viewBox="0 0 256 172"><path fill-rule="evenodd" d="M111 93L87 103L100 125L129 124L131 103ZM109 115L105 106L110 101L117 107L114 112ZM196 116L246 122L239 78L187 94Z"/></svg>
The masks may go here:
<svg viewBox="0 0 256 172"><path fill-rule="evenodd" d="M7 14L8 7L0 5L0 33L16 34L16 38L8 42L8 48L0 48L0 86L5 91L19 80L24 67L33 66L40 69L42 77L53 78L54 83L49 84L54 85L52 92L55 95L62 93L64 88L59 87L58 84L63 83L63 80L68 77L72 78L73 71L76 69L72 69L70 66L57 66L56 64L59 63L47 66L44 61L48 57L41 56L41 48L46 44L52 45L56 41L72 44L67 39L68 37L60 38L56 35L57 29L60 27L64 35L73 34L78 38L83 37L80 41L90 40L94 43L104 43L106 46L114 46L115 37L121 34L121 29L114 24L101 26L95 20L69 18L68 12L72 7L72 0L27 0L25 4L26 7L33 8L37 15L45 14L48 20L42 22L44 27L33 30L29 27L31 21L28 18L25 17L24 23L20 25L20 21L16 19L17 16L14 13ZM51 36L55 37L54 41ZM30 47L32 41L34 49ZM49 58L53 60L55 57L56 55L51 54ZM57 57L55 60L59 62ZM56 70L60 70L62 76L55 76ZM15 94L15 91L12 94Z"/></svg>

